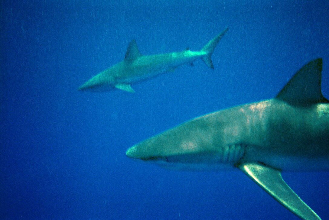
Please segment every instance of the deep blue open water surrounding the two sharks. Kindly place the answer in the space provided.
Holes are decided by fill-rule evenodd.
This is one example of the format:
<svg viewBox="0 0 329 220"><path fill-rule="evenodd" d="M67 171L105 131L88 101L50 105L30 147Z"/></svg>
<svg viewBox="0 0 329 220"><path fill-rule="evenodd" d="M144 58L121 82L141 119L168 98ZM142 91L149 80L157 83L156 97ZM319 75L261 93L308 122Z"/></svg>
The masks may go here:
<svg viewBox="0 0 329 220"><path fill-rule="evenodd" d="M193 117L274 97L323 58L329 98L329 1L2 0L1 219L298 219L236 172L183 172L129 159L135 143ZM200 50L212 60L132 87L79 92L142 54ZM298 146L297 146L298 147ZM283 173L329 219L329 172Z"/></svg>

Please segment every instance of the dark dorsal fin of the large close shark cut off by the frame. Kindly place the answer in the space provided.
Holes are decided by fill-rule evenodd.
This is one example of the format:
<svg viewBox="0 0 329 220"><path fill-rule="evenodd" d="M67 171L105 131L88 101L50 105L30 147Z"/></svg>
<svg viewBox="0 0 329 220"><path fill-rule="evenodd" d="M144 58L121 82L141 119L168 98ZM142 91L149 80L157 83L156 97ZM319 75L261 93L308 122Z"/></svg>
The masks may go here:
<svg viewBox="0 0 329 220"><path fill-rule="evenodd" d="M322 59L316 59L303 66L275 97L291 105L309 106L325 102L321 93Z"/></svg>

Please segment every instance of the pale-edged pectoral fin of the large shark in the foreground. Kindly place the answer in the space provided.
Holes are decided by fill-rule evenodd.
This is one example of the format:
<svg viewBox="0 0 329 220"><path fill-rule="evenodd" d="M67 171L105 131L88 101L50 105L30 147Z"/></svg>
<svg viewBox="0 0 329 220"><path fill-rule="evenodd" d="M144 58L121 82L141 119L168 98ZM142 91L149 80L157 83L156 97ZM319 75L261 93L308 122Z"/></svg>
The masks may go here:
<svg viewBox="0 0 329 220"><path fill-rule="evenodd" d="M239 165L247 176L261 186L268 194L302 219L320 219L282 179L281 172L261 163Z"/></svg>

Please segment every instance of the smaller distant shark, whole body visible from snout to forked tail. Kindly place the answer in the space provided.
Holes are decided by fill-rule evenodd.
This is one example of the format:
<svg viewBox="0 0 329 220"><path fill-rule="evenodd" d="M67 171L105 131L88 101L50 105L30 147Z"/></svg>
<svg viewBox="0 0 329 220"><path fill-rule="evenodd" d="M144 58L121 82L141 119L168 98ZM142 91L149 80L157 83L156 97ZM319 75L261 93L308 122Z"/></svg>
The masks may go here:
<svg viewBox="0 0 329 220"><path fill-rule="evenodd" d="M132 40L129 43L123 61L92 77L80 86L78 90L107 91L117 88L134 93L135 91L130 86L131 84L174 71L176 67L183 64L193 65L193 61L198 58L201 58L207 66L214 69L211 55L218 41L227 31L228 27L210 40L201 51L186 49L181 52L143 56L138 50L136 41Z"/></svg>

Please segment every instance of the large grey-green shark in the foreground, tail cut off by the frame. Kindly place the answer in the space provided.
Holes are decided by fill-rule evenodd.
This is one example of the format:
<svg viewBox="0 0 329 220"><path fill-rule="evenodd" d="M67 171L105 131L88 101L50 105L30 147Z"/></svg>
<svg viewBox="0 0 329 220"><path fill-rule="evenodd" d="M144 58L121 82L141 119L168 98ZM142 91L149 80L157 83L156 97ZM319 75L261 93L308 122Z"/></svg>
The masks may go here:
<svg viewBox="0 0 329 220"><path fill-rule="evenodd" d="M322 59L302 67L274 98L197 117L129 148L126 155L166 168L239 168L302 219L320 219L281 171L329 170L329 102Z"/></svg>

